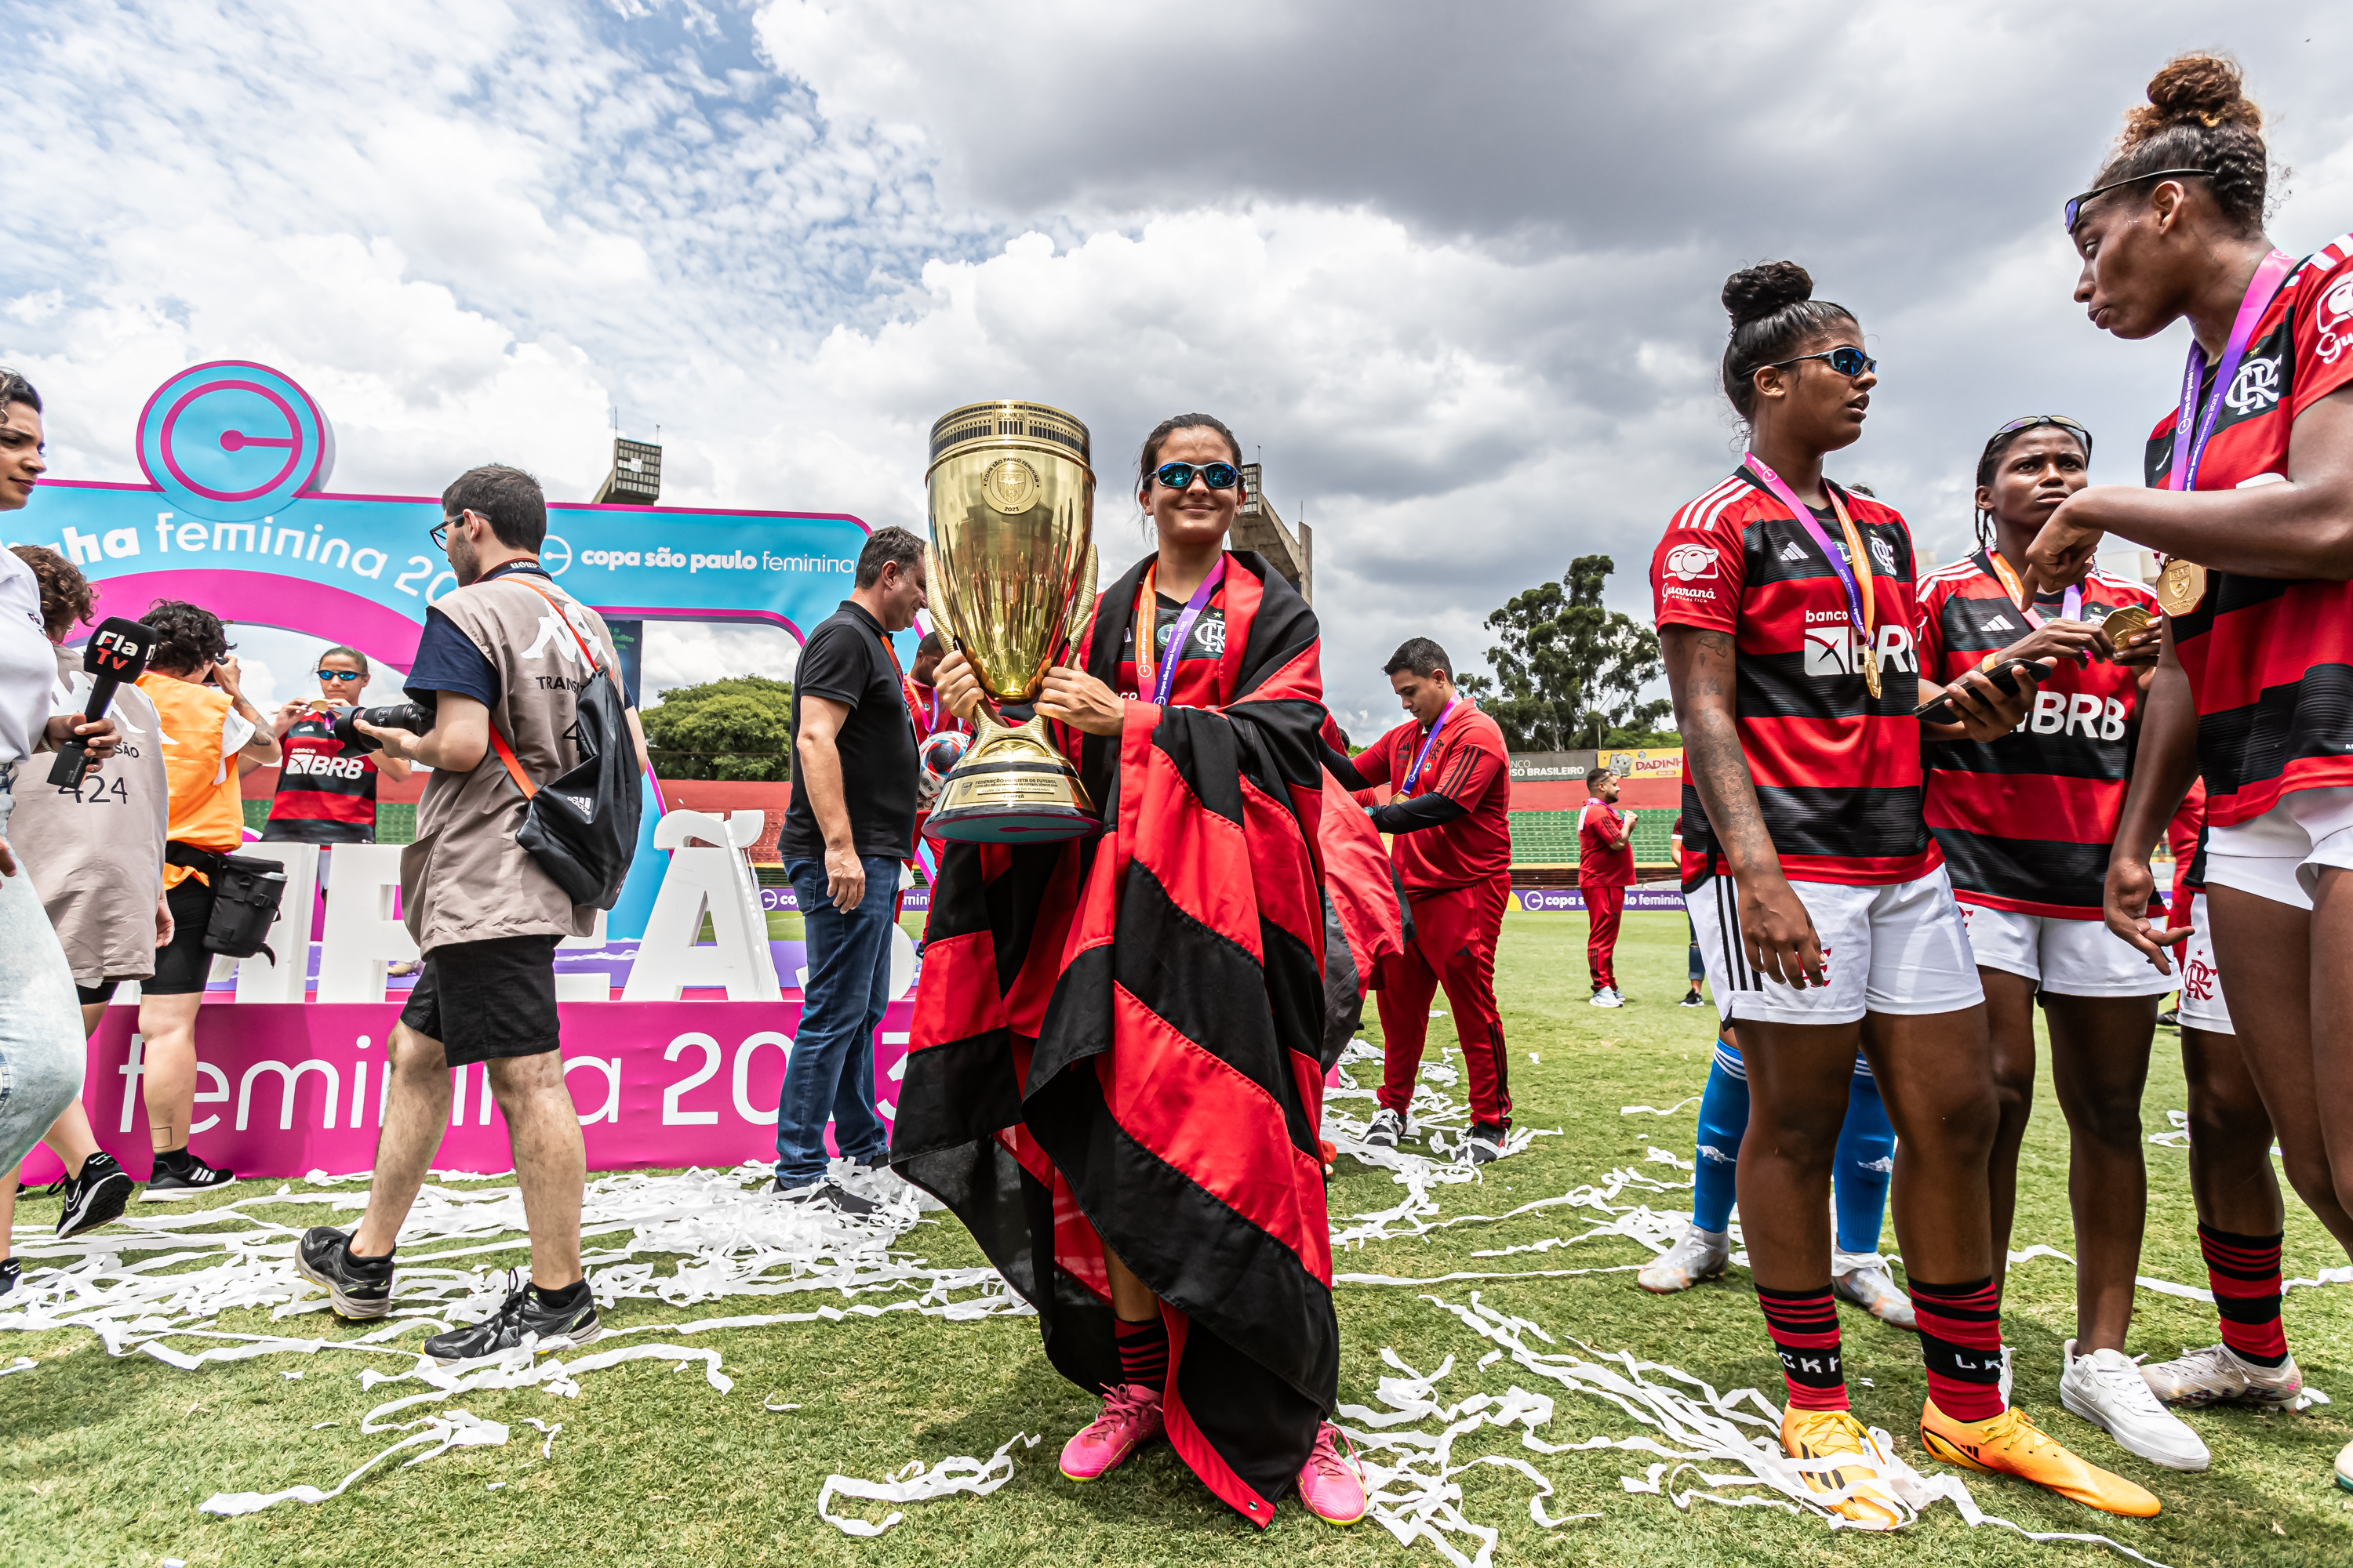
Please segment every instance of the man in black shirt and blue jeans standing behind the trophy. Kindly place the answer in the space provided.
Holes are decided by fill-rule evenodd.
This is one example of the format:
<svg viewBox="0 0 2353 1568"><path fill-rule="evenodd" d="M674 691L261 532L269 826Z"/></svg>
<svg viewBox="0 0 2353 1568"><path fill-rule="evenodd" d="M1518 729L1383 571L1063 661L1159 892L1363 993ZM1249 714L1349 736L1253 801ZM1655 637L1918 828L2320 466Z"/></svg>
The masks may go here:
<svg viewBox="0 0 2353 1568"><path fill-rule="evenodd" d="M793 675L793 804L776 849L800 905L809 973L776 1107L776 1192L871 1213L826 1180L826 1121L854 1164L887 1168L875 1110L875 1027L889 1001L899 863L915 849L915 729L889 632L922 609L922 541L878 529L856 583Z"/></svg>

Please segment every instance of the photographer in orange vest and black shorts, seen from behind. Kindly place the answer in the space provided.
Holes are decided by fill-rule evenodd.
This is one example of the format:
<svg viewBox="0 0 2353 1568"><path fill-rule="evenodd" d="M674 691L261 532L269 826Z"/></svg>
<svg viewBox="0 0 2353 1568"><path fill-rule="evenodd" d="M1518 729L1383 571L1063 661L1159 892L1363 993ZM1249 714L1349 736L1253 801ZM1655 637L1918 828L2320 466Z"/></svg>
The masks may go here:
<svg viewBox="0 0 2353 1568"><path fill-rule="evenodd" d="M146 1201L184 1199L238 1180L188 1147L195 1114L195 1009L205 1001L212 954L212 865L245 844L245 764L278 762L278 736L238 689L228 632L209 609L155 599L141 621L155 628L139 689L162 724L162 764L172 788L162 889L172 943L155 954L155 976L139 987L139 1034L146 1037L141 1091L155 1171Z"/></svg>

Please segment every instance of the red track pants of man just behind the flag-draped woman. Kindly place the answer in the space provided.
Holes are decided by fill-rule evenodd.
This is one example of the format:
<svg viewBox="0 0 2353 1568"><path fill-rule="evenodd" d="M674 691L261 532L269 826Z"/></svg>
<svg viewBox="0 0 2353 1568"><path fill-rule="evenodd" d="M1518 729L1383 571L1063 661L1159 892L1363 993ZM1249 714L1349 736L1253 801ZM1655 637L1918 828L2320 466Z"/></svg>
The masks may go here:
<svg viewBox="0 0 2353 1568"><path fill-rule="evenodd" d="M1471 1119L1499 1126L1511 1117L1504 1018L1494 1006L1494 938L1504 931L1511 875L1438 893L1407 891L1414 940L1381 973L1381 1105L1405 1112L1431 1032L1431 997L1445 985L1454 1037L1471 1079Z"/></svg>

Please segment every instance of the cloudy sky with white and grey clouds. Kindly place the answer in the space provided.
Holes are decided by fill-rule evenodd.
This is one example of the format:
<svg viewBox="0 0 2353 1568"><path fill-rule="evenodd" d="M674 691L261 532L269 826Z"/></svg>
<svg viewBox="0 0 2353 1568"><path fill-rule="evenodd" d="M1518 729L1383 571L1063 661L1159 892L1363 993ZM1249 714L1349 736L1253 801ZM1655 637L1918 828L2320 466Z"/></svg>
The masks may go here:
<svg viewBox="0 0 2353 1568"><path fill-rule="evenodd" d="M2285 247L2353 226L2353 26L2320 5L0 14L0 362L59 477L136 477L146 395L249 357L334 418L336 489L504 458L586 498L619 416L661 425L671 503L922 527L929 421L1012 395L1092 425L1125 564L1144 430L1209 409L1315 527L1351 726L1393 712L1400 637L1475 668L1485 611L1572 555L1647 618L1652 541L1732 461L1734 266L1795 256L1859 313L1882 383L1838 473L1946 557L2002 418L2071 411L2134 480L2179 329L2097 336L2057 207L2158 63L2247 63ZM786 658L673 630L649 675Z"/></svg>

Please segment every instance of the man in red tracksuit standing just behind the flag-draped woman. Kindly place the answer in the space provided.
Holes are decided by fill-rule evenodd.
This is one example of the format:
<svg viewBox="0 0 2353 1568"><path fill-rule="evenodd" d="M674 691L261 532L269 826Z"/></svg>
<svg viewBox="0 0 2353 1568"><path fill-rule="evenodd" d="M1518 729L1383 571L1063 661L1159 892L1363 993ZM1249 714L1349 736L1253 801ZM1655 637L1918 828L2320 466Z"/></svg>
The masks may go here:
<svg viewBox="0 0 2353 1568"><path fill-rule="evenodd" d="M1511 1072L1494 1006L1494 943L1511 903L1511 769L1504 731L1454 689L1454 663L1414 637L1384 665L1409 722L1355 757L1325 752L1341 785L1393 785L1369 806L1395 835L1391 858L1412 910L1414 938L1381 978L1386 1067L1365 1143L1395 1147L1421 1072L1431 997L1442 985L1471 1079L1471 1161L1501 1157L1511 1131Z"/></svg>

